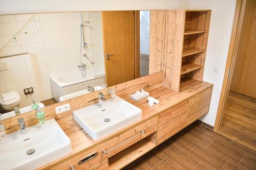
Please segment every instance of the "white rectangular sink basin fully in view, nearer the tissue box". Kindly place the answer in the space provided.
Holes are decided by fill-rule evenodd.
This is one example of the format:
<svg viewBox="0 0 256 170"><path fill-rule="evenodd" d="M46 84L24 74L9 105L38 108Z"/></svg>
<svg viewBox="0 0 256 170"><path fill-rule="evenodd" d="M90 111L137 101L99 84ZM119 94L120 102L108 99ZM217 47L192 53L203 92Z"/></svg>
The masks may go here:
<svg viewBox="0 0 256 170"><path fill-rule="evenodd" d="M76 122L94 139L98 140L141 119L141 109L119 98L94 104L73 112ZM109 122L104 119L109 118Z"/></svg>

